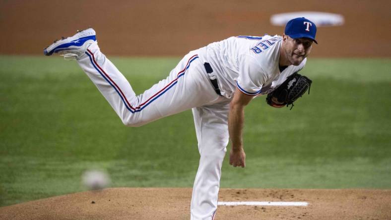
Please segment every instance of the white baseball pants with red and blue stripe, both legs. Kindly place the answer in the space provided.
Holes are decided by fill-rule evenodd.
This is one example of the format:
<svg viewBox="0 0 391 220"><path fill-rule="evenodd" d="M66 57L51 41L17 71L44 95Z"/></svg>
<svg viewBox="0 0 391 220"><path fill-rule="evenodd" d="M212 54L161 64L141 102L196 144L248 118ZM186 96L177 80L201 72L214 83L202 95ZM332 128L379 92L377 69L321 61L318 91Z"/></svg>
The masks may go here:
<svg viewBox="0 0 391 220"><path fill-rule="evenodd" d="M221 165L229 141L230 100L214 91L197 51L190 52L170 75L136 96L130 83L93 43L78 64L127 126L141 126L184 110L193 110L200 154L191 203L192 220L213 219Z"/></svg>

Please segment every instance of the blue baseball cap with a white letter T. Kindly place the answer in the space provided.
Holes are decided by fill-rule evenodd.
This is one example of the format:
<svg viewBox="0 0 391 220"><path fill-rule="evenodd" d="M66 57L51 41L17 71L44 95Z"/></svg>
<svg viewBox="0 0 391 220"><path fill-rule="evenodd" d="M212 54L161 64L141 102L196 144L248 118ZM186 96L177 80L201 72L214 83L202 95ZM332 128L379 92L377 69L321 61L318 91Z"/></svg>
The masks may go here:
<svg viewBox="0 0 391 220"><path fill-rule="evenodd" d="M293 39L309 38L318 44L318 42L315 40L316 34L317 26L315 23L304 17L294 18L288 21L285 26L285 35L288 35Z"/></svg>

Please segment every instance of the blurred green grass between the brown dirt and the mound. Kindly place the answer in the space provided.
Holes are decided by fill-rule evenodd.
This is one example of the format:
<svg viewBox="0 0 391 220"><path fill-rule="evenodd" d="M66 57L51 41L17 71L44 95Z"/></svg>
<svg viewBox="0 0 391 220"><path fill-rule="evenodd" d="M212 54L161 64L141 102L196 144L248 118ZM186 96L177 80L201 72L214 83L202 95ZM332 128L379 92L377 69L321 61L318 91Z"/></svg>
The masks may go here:
<svg viewBox="0 0 391 220"><path fill-rule="evenodd" d="M136 93L177 58L111 58ZM391 186L391 59L312 59L311 94L246 109L247 167L223 165L221 187ZM198 166L190 110L125 127L75 62L0 56L0 206L84 191L106 169L112 187L192 187Z"/></svg>

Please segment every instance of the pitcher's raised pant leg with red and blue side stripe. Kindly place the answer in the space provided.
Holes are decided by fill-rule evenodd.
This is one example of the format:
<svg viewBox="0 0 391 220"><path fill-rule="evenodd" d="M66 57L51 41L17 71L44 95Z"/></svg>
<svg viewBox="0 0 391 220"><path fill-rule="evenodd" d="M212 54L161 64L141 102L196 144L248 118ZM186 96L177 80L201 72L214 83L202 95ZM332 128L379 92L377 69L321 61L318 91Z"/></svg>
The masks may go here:
<svg viewBox="0 0 391 220"><path fill-rule="evenodd" d="M166 79L138 96L96 42L78 64L127 126L141 126L219 99L196 51L185 55Z"/></svg>

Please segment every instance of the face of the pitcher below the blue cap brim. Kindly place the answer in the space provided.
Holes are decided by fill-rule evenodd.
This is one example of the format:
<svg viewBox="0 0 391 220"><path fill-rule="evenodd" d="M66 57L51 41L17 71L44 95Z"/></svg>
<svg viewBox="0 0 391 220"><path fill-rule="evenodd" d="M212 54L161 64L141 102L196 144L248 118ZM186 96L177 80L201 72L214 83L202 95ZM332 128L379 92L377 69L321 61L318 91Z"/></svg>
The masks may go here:
<svg viewBox="0 0 391 220"><path fill-rule="evenodd" d="M299 65L312 49L313 41L308 38L293 39L284 35L284 50L286 58L292 65Z"/></svg>

